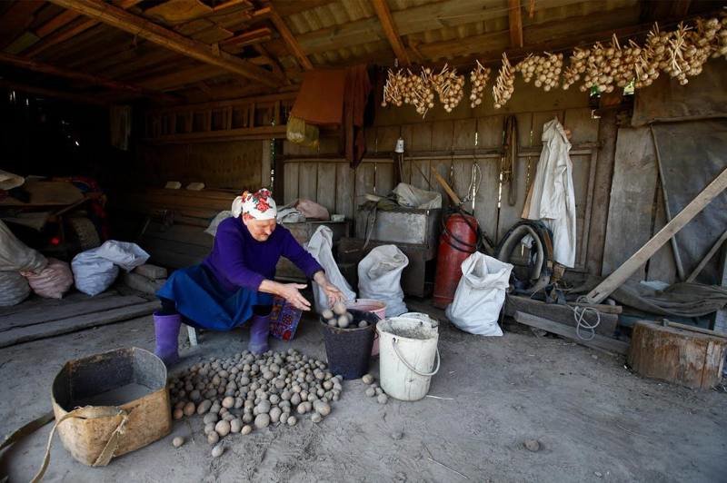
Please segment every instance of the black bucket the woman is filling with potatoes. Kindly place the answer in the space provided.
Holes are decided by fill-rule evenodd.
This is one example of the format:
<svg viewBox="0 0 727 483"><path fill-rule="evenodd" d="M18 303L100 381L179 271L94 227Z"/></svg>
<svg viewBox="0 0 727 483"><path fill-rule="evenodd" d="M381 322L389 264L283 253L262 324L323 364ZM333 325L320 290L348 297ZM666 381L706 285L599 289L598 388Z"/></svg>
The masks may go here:
<svg viewBox="0 0 727 483"><path fill-rule="evenodd" d="M325 355L328 358L328 368L334 374L344 376L345 380L359 379L369 370L371 361L371 348L376 334L378 316L373 312L356 311L349 309L354 316L355 326L359 321L369 322L367 327L354 329L340 329L331 327L321 317L323 325Z"/></svg>

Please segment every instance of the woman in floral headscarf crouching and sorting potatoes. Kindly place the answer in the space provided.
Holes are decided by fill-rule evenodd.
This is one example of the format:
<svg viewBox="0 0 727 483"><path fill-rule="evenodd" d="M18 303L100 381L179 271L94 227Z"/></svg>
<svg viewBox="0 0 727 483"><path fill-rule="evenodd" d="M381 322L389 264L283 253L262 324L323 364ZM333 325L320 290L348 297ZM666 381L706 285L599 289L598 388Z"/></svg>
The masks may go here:
<svg viewBox="0 0 727 483"><path fill-rule="evenodd" d="M344 299L321 265L276 224L277 208L268 190L244 192L234 200L232 210L233 217L217 227L212 252L202 264L174 271L156 292L162 311L154 313L154 352L167 365L179 359L182 317L194 327L210 330L232 330L250 320L248 349L262 353L268 350L274 295L296 309L310 311L310 302L300 293L305 284L273 280L281 256L320 285L332 305Z"/></svg>

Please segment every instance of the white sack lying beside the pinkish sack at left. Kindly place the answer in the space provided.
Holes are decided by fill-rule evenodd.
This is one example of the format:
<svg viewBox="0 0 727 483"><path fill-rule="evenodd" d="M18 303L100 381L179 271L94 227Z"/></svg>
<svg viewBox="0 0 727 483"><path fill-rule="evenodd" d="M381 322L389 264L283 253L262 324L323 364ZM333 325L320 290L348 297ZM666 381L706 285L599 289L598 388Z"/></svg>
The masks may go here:
<svg viewBox="0 0 727 483"><path fill-rule="evenodd" d="M109 240L98 248L78 253L71 261L75 288L93 297L114 283L119 274L116 265L132 271L148 259L149 254L136 243Z"/></svg>

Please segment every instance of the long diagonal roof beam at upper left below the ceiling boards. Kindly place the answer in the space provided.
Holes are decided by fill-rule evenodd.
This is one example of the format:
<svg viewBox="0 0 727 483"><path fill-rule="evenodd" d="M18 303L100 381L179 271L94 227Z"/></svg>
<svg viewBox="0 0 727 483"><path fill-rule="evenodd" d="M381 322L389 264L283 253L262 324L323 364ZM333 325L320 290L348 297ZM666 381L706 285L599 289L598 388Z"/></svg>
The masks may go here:
<svg viewBox="0 0 727 483"><path fill-rule="evenodd" d="M214 65L232 74L241 75L260 84L277 86L282 79L256 65L244 62L234 55L220 52L214 55L209 45L177 34L161 25L124 10L105 4L101 0L52 0L56 5L87 15L94 20L111 25L129 34L138 35L176 53L186 55L204 64Z"/></svg>

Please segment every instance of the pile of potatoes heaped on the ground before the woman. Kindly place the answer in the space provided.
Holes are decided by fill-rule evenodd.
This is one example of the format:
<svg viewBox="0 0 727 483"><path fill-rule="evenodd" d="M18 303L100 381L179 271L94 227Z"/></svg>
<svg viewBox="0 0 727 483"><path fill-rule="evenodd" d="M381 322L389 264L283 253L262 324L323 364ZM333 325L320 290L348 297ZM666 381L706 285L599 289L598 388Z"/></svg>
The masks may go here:
<svg viewBox="0 0 727 483"><path fill-rule="evenodd" d="M246 435L271 424L294 426L306 415L318 423L343 390L343 377L326 369L324 362L293 349L211 358L170 380L173 417L204 415L211 445L230 433Z"/></svg>

